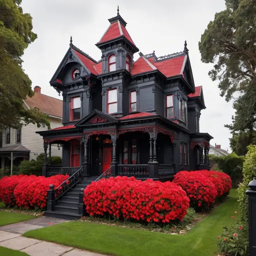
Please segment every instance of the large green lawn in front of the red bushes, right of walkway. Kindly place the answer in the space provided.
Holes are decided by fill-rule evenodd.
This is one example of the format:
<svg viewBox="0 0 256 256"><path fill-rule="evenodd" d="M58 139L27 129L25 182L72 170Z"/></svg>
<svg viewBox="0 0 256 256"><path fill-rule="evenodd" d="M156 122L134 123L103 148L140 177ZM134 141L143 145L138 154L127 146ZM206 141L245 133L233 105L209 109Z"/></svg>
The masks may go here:
<svg viewBox="0 0 256 256"><path fill-rule="evenodd" d="M237 193L199 221L185 235L71 221L26 232L24 235L81 249L118 256L214 256L217 236L230 225L237 210Z"/></svg>

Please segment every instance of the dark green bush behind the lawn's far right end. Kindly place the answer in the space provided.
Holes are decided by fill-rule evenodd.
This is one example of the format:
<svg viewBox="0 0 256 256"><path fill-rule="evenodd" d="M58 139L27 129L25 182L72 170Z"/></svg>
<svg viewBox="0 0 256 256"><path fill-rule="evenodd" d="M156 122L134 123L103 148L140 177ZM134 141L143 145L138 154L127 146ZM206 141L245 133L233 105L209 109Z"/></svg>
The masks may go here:
<svg viewBox="0 0 256 256"><path fill-rule="evenodd" d="M238 181L242 179L242 164L244 157L235 153L216 158L218 168L228 174L232 179L233 187L237 187Z"/></svg>

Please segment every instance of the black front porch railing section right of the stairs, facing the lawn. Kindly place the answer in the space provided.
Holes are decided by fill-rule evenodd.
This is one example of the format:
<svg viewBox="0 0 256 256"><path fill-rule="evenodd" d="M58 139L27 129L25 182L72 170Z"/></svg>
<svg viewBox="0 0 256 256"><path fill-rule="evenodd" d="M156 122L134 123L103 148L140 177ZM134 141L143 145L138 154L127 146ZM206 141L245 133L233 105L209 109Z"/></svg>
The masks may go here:
<svg viewBox="0 0 256 256"><path fill-rule="evenodd" d="M147 164L118 164L117 169L120 176L148 176Z"/></svg>

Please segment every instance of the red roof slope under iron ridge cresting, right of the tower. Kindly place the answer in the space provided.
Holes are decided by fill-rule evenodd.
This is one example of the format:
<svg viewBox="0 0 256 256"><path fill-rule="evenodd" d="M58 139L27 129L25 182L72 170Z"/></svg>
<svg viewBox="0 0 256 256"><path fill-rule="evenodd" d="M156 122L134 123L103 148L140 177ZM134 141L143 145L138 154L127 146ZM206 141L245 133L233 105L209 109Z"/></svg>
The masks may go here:
<svg viewBox="0 0 256 256"><path fill-rule="evenodd" d="M165 59L162 61L153 62L154 66L166 77L171 77L181 73L185 56L178 56L174 58ZM153 60L149 60L150 62ZM152 62L151 62L152 63Z"/></svg>

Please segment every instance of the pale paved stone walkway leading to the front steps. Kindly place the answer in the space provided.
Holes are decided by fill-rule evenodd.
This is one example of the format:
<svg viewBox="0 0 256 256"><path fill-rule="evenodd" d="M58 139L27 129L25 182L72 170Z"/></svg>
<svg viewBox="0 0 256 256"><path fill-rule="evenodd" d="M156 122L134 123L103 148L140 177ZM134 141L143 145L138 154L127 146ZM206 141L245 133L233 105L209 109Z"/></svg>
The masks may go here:
<svg viewBox="0 0 256 256"><path fill-rule="evenodd" d="M53 242L46 242L22 236L26 231L65 221L68 220L45 216L24 222L0 226L0 246L20 250L30 256L104 256L90 251L79 250Z"/></svg>

